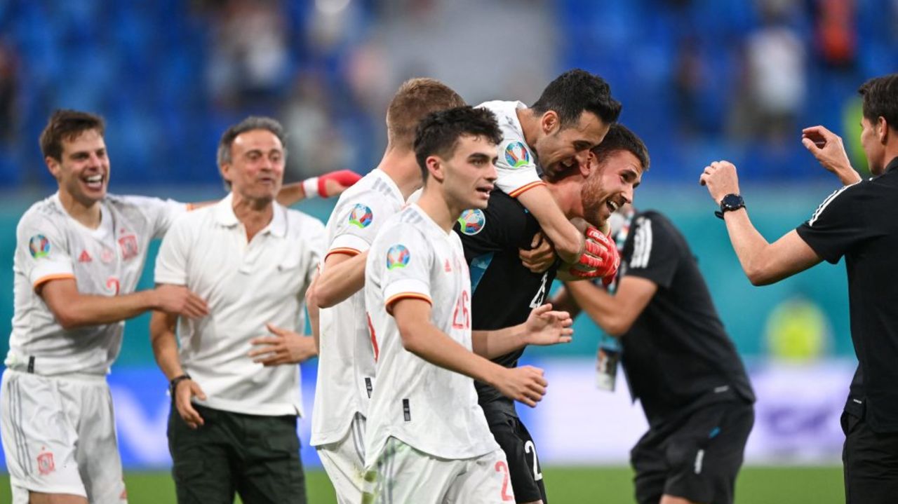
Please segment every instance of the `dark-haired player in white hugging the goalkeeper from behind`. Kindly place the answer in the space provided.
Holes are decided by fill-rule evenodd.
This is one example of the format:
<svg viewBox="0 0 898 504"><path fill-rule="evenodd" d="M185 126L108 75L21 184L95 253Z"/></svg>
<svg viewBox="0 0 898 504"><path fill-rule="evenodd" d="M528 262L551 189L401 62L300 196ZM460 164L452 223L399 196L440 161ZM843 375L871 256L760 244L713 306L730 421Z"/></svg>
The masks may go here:
<svg viewBox="0 0 898 504"><path fill-rule="evenodd" d="M608 83L584 70L552 81L533 107L520 101L487 101L502 129L496 185L536 217L556 253L568 264L591 263L584 234L568 221L540 178L587 164L589 150L602 142L621 115ZM537 164L539 163L539 164Z"/></svg>

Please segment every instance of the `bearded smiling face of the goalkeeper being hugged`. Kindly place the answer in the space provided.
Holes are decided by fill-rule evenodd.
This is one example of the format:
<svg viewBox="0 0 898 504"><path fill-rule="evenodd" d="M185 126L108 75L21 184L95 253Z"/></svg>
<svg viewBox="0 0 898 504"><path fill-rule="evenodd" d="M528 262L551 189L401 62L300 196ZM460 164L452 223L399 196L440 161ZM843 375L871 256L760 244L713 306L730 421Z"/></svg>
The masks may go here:
<svg viewBox="0 0 898 504"><path fill-rule="evenodd" d="M590 156L592 170L580 189L583 218L597 228L624 204L633 203L633 191L642 180L642 164L632 152L609 153L599 162Z"/></svg>

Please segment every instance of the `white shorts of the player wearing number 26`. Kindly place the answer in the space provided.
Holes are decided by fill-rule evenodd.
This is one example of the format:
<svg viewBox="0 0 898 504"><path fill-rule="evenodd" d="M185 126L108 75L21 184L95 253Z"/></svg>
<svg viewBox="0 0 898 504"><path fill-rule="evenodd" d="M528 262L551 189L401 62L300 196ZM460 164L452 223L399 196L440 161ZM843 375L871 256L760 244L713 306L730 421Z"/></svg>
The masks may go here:
<svg viewBox="0 0 898 504"><path fill-rule="evenodd" d="M387 439L367 465L363 504L514 503L505 452L452 460L427 455L399 439Z"/></svg>

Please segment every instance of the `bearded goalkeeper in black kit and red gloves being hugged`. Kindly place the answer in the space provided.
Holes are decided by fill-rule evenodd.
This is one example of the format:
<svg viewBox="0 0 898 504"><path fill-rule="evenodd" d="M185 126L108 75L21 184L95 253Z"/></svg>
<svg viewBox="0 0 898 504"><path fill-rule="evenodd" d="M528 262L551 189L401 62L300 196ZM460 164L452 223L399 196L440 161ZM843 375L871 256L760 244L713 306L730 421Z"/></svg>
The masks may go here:
<svg viewBox="0 0 898 504"><path fill-rule="evenodd" d="M632 202L633 190L648 167L647 159L630 155L624 157L624 162L606 162L606 145L615 151L630 148L645 151L636 135L614 124L585 167L573 165L547 177L545 187L566 219L586 219L602 227L614 208ZM475 331L524 322L531 309L543 304L556 273L565 275L566 279L574 278L564 270L559 271L558 261L538 273L522 264L518 251L530 247L540 224L521 202L501 190L492 192L486 209L465 211L455 230L462 239L465 259L471 268L471 317ZM613 251L612 241L602 233L595 228L588 232L592 239ZM600 278L612 274L615 262L605 261L603 268L598 271ZM523 353L524 348L516 349L493 361L514 368ZM475 386L489 429L508 459L515 498L518 502L545 504L546 489L536 446L517 416L515 403L489 384L475 382Z"/></svg>

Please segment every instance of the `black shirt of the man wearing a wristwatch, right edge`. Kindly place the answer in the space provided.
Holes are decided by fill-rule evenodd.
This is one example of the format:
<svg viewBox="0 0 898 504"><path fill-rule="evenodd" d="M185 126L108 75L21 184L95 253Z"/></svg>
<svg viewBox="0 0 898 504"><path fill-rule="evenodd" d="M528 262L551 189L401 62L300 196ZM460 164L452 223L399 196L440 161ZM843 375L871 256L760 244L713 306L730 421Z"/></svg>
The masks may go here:
<svg viewBox="0 0 898 504"><path fill-rule="evenodd" d="M832 193L797 232L826 261L845 256L858 355L849 404L866 406L872 430L898 431L898 158Z"/></svg>

